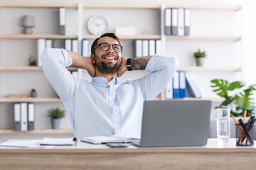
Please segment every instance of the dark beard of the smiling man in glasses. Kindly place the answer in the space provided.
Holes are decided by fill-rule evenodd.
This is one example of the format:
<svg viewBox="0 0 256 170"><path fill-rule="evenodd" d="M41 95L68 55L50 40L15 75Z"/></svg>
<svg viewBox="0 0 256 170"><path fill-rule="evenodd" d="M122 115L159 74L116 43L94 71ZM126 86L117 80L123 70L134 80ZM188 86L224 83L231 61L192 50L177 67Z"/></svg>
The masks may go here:
<svg viewBox="0 0 256 170"><path fill-rule="evenodd" d="M102 61L100 56L95 55L95 66L99 72L102 74L115 74L121 66L121 61L115 64L107 63L107 61Z"/></svg>

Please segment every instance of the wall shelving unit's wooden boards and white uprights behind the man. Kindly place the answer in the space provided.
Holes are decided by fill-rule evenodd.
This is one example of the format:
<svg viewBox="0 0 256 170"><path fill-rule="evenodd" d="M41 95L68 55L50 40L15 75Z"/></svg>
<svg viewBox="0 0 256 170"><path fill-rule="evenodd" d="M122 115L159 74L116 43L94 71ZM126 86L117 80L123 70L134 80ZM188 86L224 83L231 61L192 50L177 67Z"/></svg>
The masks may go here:
<svg viewBox="0 0 256 170"><path fill-rule="evenodd" d="M39 38L46 38L46 39L78 39L82 40L82 38L94 40L98 38L99 35L88 35L86 33L82 33L83 29L85 28L85 23L82 21L82 11L85 9L124 9L124 10L156 10L161 12L161 28L159 28L159 33L153 34L138 34L138 35L119 35L120 40L162 40L163 43L163 54L165 55L166 51L168 50L166 47L166 41L178 40L179 42L192 42L192 41L227 41L227 42L239 42L242 40L241 36L226 36L226 35L189 35L189 36L166 36L164 35L163 29L163 10L164 8L191 8L191 10L203 10L203 11L240 11L241 6L192 6L192 5L171 5L171 4L50 4L50 3L0 3L1 8L73 8L78 12L78 31L73 33L72 35L58 35L58 34L32 34L32 35L24 35L24 34L3 34L0 33L0 41L1 40L36 40ZM77 16L76 16L77 17ZM134 18L136 20L136 18ZM155 22L155 21L154 21ZM4 26L3 26L4 27ZM160 27L160 26L159 26ZM241 67L194 67L194 66L181 66L178 70L183 70L187 72L240 72ZM74 68L69 68L69 70L76 70ZM28 67L28 66L0 66L0 74L9 74L9 72L23 72L26 71L26 74L31 72L38 72L42 71L41 67ZM78 70L79 74L81 73ZM21 74L21 73L19 73ZM1 79L0 79L1 81ZM163 98L156 98L156 100L161 100ZM222 98L182 98L178 100L210 100L213 102L221 102L223 101ZM14 102L33 102L33 103L61 103L60 98L55 97L40 97L40 98L6 98L0 96L0 103L1 104L9 104ZM39 129L27 132L16 132L10 129L0 130L1 134L72 134L72 130L48 130L48 129Z"/></svg>

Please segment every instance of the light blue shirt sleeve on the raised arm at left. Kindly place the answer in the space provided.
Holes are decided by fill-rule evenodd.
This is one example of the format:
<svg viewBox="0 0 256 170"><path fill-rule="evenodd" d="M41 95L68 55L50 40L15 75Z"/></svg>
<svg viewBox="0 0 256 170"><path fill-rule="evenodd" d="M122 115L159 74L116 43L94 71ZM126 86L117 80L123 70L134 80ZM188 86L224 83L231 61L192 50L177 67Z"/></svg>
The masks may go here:
<svg viewBox="0 0 256 170"><path fill-rule="evenodd" d="M63 103L75 96L75 77L66 69L73 61L64 49L47 48L41 55L43 72Z"/></svg>

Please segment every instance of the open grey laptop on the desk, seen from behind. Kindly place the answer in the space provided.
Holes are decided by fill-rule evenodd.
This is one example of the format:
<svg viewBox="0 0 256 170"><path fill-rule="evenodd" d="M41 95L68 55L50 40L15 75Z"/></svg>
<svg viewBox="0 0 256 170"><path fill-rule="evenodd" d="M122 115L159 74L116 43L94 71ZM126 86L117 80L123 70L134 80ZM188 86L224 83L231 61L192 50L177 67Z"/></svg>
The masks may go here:
<svg viewBox="0 0 256 170"><path fill-rule="evenodd" d="M138 147L207 144L211 101L144 101Z"/></svg>

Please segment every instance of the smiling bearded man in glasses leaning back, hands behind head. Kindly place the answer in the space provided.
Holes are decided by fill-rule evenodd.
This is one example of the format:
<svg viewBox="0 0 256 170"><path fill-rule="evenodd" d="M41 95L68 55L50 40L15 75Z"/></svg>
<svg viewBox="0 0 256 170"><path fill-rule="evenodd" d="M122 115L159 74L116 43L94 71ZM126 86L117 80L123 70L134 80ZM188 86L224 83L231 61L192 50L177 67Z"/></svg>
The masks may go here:
<svg viewBox="0 0 256 170"><path fill-rule="evenodd" d="M178 67L174 57L127 59L114 33L92 43L90 57L64 49L42 53L43 72L63 101L75 137L121 135L140 137L144 100L153 100ZM73 77L65 67L87 69L92 82ZM127 70L146 69L141 79L119 82Z"/></svg>

